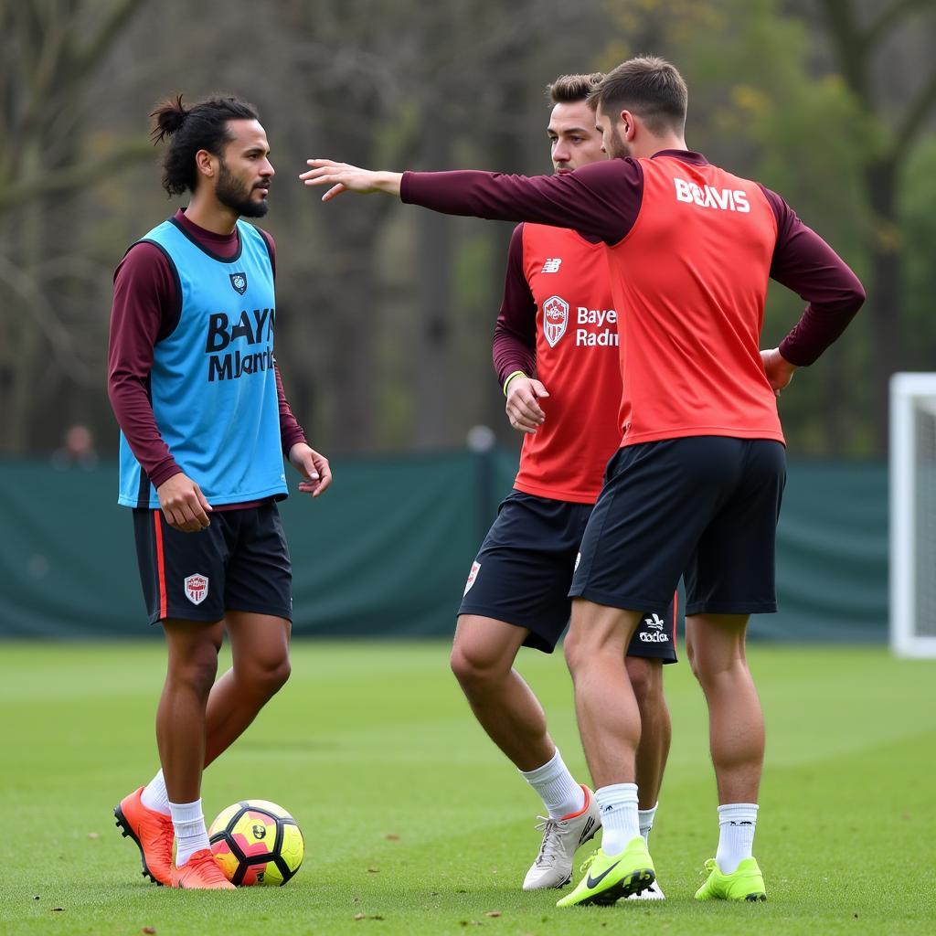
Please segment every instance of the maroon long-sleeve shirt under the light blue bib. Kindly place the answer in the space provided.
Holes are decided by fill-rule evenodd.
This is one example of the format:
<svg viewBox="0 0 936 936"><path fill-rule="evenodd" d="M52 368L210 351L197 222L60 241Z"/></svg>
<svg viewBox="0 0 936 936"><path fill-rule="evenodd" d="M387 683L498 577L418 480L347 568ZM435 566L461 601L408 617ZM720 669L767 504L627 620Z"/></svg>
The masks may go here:
<svg viewBox="0 0 936 936"><path fill-rule="evenodd" d="M215 234L193 224L182 209L175 220L185 232L217 256L234 256L237 233ZM276 273L275 244L270 234L260 233L270 246ZM136 243L114 273L114 298L110 313L108 395L114 416L143 471L154 488L172 475L182 474L156 426L147 384L153 369L154 344L172 333L180 313L175 276L163 252L151 243ZM305 433L293 416L276 367L279 395L280 438L286 455Z"/></svg>

